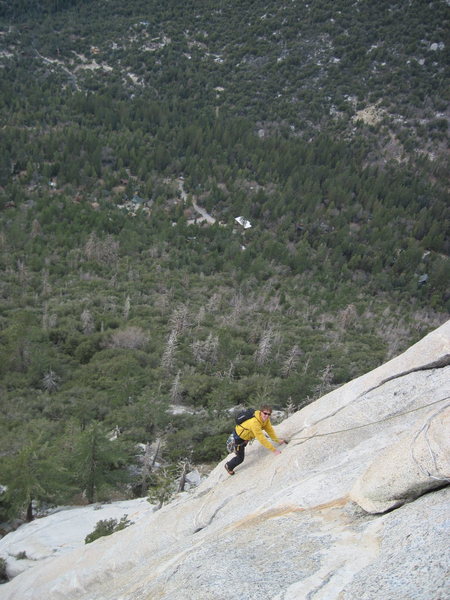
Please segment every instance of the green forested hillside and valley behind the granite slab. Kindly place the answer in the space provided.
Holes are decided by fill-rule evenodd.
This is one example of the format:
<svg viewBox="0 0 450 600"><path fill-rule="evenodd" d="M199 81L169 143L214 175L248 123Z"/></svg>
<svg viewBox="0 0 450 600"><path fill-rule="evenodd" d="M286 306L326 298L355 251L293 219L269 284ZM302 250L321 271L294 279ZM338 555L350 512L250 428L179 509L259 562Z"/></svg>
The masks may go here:
<svg viewBox="0 0 450 600"><path fill-rule="evenodd" d="M294 410L448 318L448 17L0 3L3 518L145 494L137 443L217 461L229 408Z"/></svg>

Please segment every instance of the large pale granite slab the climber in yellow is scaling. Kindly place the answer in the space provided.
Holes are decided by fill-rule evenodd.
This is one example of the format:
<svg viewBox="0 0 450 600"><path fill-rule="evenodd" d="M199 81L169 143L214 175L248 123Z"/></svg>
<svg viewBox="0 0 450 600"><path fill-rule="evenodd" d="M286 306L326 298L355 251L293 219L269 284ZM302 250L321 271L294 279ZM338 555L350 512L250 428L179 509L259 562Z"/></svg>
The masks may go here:
<svg viewBox="0 0 450 600"><path fill-rule="evenodd" d="M234 477L222 462L2 600L447 597L449 356L450 322L279 424L280 455L251 445Z"/></svg>

